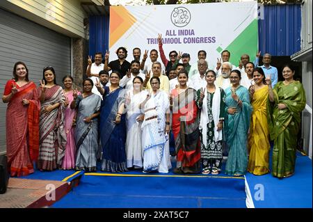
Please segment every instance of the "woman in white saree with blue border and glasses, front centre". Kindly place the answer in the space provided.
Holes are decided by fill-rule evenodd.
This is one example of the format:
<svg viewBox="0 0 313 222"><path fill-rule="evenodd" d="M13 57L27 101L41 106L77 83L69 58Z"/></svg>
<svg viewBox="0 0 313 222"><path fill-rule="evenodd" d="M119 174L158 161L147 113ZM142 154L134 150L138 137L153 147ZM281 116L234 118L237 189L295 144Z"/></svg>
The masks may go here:
<svg viewBox="0 0 313 222"><path fill-rule="evenodd" d="M143 172L168 173L172 167L168 142L170 102L168 94L159 90L159 77L152 77L150 84L152 92L147 94L140 106L145 113L145 120L141 126L143 129Z"/></svg>

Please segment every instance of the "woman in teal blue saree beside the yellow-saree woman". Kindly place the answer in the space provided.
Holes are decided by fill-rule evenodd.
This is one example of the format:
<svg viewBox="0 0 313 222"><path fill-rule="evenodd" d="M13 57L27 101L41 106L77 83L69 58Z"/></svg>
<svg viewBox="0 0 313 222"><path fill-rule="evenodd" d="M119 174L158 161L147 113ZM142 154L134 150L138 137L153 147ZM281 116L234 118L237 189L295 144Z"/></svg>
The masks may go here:
<svg viewBox="0 0 313 222"><path fill-rule="evenodd" d="M240 80L241 72L232 70L232 86L225 89L225 141L230 148L225 173L234 176L243 175L247 171L247 136L252 113L248 89L239 84Z"/></svg>

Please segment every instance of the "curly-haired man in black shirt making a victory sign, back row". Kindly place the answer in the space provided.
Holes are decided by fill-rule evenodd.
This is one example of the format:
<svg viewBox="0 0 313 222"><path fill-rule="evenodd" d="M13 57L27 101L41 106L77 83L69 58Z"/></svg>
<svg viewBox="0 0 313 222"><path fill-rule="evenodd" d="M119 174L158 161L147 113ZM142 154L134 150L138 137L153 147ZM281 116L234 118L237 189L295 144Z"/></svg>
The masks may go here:
<svg viewBox="0 0 313 222"><path fill-rule="evenodd" d="M122 79L122 77L125 76L126 72L130 70L131 64L125 60L125 58L127 57L127 50L125 49L125 47L119 47L116 51L116 54L118 55L118 59L109 63L109 53L108 51L106 51L106 55L104 56L104 70L108 72L110 70L118 71L120 72L120 77Z"/></svg>

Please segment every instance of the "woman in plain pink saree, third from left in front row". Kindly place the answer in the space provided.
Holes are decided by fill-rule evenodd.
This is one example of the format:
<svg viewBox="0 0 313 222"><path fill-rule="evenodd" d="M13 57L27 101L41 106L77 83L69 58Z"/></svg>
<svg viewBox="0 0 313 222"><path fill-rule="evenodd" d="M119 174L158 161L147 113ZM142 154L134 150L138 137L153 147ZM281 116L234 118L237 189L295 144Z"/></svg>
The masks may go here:
<svg viewBox="0 0 313 222"><path fill-rule="evenodd" d="M71 109L70 104L74 100L73 97L73 81L74 79L67 75L63 77L63 84L64 89L63 93L65 95L65 103L64 103L64 128L66 134L66 146L65 146L65 156L62 162L62 169L63 170L72 170L75 168L75 161L76 161L76 145L74 140L74 131L76 125L76 114L77 109ZM80 92L77 95L81 95Z"/></svg>

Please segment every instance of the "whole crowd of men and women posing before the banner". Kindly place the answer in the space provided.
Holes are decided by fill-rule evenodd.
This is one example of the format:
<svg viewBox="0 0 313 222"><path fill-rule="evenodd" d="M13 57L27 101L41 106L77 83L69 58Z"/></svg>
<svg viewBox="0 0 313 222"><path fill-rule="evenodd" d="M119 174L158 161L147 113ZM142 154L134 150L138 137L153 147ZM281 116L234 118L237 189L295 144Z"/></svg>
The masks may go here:
<svg viewBox="0 0 313 222"><path fill-rule="evenodd" d="M52 67L43 69L38 87L26 64L15 63L3 93L11 176L33 173L34 161L40 171L168 173L172 134L174 173L218 175L227 156L225 174L264 175L273 141L271 173L294 174L305 91L290 65L282 70L284 81L272 86L272 76L248 61L241 68L218 61L214 70L199 58L191 74L190 65L177 62L189 55L171 51L170 61L162 58L162 74L158 61L145 64L147 51L141 63L134 56L128 65L125 48L117 55L109 64L108 54L104 63L102 54L95 63L88 58L82 92L71 76L63 78L64 88L58 86Z"/></svg>

